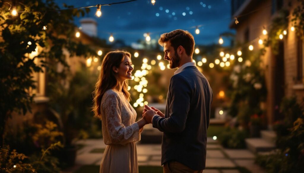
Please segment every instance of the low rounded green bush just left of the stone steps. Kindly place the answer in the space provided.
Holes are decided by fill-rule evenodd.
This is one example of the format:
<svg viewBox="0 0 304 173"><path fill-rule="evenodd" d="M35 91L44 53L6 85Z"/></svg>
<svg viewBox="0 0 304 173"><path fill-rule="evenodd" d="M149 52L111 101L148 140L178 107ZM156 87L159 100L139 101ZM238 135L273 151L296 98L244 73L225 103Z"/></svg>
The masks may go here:
<svg viewBox="0 0 304 173"><path fill-rule="evenodd" d="M225 148L246 148L245 138L248 134L244 130L226 128L218 137Z"/></svg>

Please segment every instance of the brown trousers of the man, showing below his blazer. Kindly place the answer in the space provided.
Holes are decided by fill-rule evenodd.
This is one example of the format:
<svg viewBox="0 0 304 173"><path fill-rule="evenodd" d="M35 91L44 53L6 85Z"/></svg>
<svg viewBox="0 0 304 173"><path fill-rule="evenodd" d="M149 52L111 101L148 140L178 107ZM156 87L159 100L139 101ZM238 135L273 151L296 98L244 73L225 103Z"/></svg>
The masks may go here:
<svg viewBox="0 0 304 173"><path fill-rule="evenodd" d="M164 173L202 173L203 170L193 170L188 166L177 161L168 161L164 163Z"/></svg>

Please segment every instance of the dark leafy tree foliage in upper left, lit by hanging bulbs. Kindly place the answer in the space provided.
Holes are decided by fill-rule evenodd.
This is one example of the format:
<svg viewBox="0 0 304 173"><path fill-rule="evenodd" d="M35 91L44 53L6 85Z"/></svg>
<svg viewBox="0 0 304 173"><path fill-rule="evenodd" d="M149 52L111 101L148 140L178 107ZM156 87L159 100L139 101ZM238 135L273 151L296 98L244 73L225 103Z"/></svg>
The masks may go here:
<svg viewBox="0 0 304 173"><path fill-rule="evenodd" d="M34 72L56 74L51 65L60 63L67 69L66 49L70 56L95 55L88 46L73 40L75 25L73 17L84 15L83 10L45 12L57 10L54 0L18 1L17 11L33 11L12 16L7 3L1 1L0 29L0 142L2 145L5 121L13 111L25 114L31 111L30 104L34 94L29 91L36 88ZM40 12L35 12L40 11ZM47 30L43 30L47 26ZM31 42L31 44L28 44ZM38 54L30 56L38 47ZM46 59L44 59L46 58ZM64 73L64 72L63 72Z"/></svg>

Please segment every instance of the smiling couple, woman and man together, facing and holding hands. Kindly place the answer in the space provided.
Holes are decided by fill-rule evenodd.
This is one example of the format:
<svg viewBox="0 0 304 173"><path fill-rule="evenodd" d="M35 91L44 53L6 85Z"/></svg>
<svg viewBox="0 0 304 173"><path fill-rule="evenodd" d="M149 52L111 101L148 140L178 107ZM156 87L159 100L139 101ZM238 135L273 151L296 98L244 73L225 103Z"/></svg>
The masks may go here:
<svg viewBox="0 0 304 173"><path fill-rule="evenodd" d="M207 129L212 89L192 62L194 38L181 29L161 35L164 59L178 68L170 79L166 109L145 105L143 118L136 121L127 91L132 78L131 54L108 52L94 91L95 117L102 120L105 148L100 173L138 173L136 141L143 126L152 123L163 132L161 165L165 173L199 173L206 165Z"/></svg>

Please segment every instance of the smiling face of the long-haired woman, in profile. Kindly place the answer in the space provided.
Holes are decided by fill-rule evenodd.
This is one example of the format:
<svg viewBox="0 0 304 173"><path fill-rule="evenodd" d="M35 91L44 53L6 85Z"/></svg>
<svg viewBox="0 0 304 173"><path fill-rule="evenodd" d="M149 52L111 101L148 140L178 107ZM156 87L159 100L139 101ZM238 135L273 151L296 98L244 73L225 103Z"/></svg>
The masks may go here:
<svg viewBox="0 0 304 173"><path fill-rule="evenodd" d="M133 67L131 65L131 58L125 55L123 62L121 62L119 68L117 68L118 78L121 80L132 79Z"/></svg>

